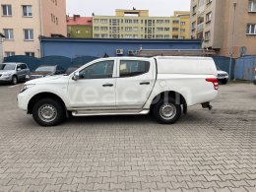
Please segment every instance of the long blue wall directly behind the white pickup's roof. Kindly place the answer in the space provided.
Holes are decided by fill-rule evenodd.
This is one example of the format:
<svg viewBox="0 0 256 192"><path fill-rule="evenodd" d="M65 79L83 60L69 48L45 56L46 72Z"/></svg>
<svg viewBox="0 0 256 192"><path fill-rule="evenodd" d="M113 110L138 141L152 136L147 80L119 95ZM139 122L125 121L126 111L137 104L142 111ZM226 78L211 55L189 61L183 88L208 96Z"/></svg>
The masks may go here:
<svg viewBox="0 0 256 192"><path fill-rule="evenodd" d="M79 56L102 57L105 53L116 56L116 49L201 49L200 40L147 40L147 39L78 39L41 38L42 56L61 55L70 58Z"/></svg>

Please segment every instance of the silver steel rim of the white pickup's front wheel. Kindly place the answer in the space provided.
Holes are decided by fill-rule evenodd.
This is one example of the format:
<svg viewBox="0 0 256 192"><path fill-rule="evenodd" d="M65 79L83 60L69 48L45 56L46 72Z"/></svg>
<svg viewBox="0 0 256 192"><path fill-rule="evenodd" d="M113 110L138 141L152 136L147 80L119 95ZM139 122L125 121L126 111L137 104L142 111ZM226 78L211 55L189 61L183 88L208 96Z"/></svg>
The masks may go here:
<svg viewBox="0 0 256 192"><path fill-rule="evenodd" d="M43 104L38 108L38 116L44 122L51 122L57 117L57 109L52 104Z"/></svg>

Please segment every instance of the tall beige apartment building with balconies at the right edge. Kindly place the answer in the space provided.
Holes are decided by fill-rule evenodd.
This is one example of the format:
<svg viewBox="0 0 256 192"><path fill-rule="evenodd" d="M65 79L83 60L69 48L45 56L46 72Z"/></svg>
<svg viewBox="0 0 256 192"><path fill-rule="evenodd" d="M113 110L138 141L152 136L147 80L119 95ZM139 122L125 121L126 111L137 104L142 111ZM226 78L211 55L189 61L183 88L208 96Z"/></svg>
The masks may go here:
<svg viewBox="0 0 256 192"><path fill-rule="evenodd" d="M256 54L256 0L191 0L191 37L219 55Z"/></svg>

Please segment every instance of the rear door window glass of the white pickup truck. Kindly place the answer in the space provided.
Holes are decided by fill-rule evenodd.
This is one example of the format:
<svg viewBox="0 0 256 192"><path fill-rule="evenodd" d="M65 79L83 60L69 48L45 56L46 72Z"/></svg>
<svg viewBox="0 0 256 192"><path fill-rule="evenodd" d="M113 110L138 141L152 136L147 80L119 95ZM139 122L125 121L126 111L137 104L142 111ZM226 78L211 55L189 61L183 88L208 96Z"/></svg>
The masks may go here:
<svg viewBox="0 0 256 192"><path fill-rule="evenodd" d="M150 71L151 63L138 60L121 60L119 71L120 78L139 76Z"/></svg>

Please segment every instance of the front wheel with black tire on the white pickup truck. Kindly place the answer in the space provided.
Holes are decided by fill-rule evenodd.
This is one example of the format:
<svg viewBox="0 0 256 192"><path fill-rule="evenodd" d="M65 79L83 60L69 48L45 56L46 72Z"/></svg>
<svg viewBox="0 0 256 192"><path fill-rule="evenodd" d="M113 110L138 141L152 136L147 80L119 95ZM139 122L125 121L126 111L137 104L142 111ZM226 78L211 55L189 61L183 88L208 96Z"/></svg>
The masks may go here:
<svg viewBox="0 0 256 192"><path fill-rule="evenodd" d="M51 116L51 113L53 113L51 118L49 116L48 118L45 117L47 114ZM65 119L65 114L65 107L61 102L53 98L39 99L32 107L32 117L34 121L45 127L56 126L62 123Z"/></svg>

